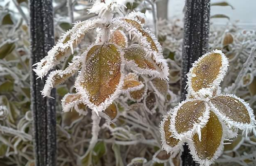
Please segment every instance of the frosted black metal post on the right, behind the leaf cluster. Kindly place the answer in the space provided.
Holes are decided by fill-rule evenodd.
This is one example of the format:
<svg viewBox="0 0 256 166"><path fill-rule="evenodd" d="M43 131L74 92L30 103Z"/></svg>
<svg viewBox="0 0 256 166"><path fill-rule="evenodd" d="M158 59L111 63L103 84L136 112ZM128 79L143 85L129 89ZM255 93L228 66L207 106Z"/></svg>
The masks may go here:
<svg viewBox="0 0 256 166"><path fill-rule="evenodd" d="M181 101L186 95L186 73L192 64L208 50L209 40L210 0L186 0L184 18L184 39L182 49L182 79ZM195 165L189 153L187 145L184 145L182 153L182 165Z"/></svg>

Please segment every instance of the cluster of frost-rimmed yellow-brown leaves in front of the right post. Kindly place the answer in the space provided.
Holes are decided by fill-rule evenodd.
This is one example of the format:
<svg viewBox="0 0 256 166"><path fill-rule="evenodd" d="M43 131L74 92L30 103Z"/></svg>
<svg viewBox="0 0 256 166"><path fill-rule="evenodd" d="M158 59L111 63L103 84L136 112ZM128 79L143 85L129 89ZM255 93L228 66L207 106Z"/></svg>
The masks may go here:
<svg viewBox="0 0 256 166"><path fill-rule="evenodd" d="M227 68L227 58L220 50L204 54L187 74L186 100L167 115L169 138L187 142L200 165L212 164L221 155L224 141L236 137L238 130L245 136L251 131L255 134L255 116L249 104L235 95L221 95L219 84ZM166 117L160 131L163 149L170 152L176 149L166 144Z"/></svg>

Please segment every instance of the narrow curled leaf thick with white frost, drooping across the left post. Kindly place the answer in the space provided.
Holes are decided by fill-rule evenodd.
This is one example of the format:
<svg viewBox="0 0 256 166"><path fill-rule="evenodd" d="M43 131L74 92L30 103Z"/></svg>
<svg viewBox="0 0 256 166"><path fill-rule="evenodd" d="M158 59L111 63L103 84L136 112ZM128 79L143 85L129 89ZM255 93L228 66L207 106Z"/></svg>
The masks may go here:
<svg viewBox="0 0 256 166"><path fill-rule="evenodd" d="M44 77L55 65L70 56L70 54L73 54L74 47L76 47L84 38L84 35L86 35L91 29L95 28L97 24L97 19L76 23L72 29L61 36L57 44L48 51L46 57L44 57L40 62L34 64L37 67L34 68L33 71L35 71L40 78Z"/></svg>

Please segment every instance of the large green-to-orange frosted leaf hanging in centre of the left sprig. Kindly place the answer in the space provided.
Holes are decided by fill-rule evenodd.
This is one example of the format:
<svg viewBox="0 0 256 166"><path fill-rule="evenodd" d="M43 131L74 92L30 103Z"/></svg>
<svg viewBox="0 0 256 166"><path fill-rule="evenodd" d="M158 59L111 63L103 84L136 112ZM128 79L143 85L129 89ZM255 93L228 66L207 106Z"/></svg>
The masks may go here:
<svg viewBox="0 0 256 166"><path fill-rule="evenodd" d="M89 48L76 81L76 88L88 107L101 112L118 97L123 86L121 64L121 53L114 44Z"/></svg>

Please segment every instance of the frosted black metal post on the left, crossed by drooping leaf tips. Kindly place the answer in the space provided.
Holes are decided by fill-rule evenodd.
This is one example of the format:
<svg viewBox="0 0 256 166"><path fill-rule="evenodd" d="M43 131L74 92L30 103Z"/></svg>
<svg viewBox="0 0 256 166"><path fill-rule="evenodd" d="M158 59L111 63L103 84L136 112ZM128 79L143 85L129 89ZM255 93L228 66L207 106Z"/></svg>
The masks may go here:
<svg viewBox="0 0 256 166"><path fill-rule="evenodd" d="M54 45L52 0L30 0L31 64L39 62ZM56 165L55 100L42 98L45 79L31 71L31 110L33 112L33 145L37 166ZM55 97L55 90L52 90Z"/></svg>

